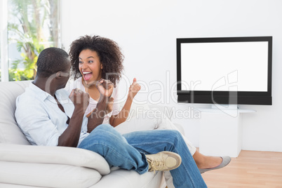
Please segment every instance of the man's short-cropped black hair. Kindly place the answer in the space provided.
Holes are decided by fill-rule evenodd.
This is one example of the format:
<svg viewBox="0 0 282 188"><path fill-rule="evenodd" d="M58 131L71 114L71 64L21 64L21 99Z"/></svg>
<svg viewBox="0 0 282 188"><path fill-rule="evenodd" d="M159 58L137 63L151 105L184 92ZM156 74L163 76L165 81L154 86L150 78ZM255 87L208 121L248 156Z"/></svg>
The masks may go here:
<svg viewBox="0 0 282 188"><path fill-rule="evenodd" d="M39 54L37 59L37 73L41 77L49 77L56 72L65 71L65 63L69 55L61 48L46 48Z"/></svg>

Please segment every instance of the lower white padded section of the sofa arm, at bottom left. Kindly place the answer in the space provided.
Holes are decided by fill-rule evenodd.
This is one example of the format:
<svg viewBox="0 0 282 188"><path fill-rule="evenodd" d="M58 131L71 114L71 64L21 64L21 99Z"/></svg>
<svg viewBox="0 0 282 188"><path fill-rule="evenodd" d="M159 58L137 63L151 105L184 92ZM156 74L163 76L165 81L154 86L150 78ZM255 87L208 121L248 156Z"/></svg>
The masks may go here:
<svg viewBox="0 0 282 188"><path fill-rule="evenodd" d="M36 187L90 187L101 175L91 168L48 164L0 161L0 182Z"/></svg>

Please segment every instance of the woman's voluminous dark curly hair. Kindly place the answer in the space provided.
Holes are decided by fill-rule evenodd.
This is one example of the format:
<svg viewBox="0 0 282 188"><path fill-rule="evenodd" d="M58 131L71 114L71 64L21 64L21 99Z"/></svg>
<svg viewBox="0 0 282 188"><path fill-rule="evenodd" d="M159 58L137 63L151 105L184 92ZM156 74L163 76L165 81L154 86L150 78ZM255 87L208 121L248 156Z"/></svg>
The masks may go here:
<svg viewBox="0 0 282 188"><path fill-rule="evenodd" d="M103 66L102 79L109 79L116 86L123 72L124 56L121 53L121 48L115 41L101 36L81 36L71 43L69 58L72 64L71 74L74 79L82 76L79 71L79 54L86 49L95 51L98 54Z"/></svg>

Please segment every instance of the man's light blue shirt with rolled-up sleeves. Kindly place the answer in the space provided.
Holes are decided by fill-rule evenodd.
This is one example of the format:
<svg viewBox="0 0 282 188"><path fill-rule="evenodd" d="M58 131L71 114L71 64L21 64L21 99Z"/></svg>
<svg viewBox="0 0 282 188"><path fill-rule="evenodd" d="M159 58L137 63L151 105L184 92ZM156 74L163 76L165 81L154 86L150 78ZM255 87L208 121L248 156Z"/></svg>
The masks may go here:
<svg viewBox="0 0 282 188"><path fill-rule="evenodd" d="M22 133L32 145L57 146L60 135L67 128L67 116L72 118L74 104L65 89L55 92L65 112L58 107L55 98L30 83L25 93L16 100L15 119ZM79 144L88 135L88 119L84 115Z"/></svg>

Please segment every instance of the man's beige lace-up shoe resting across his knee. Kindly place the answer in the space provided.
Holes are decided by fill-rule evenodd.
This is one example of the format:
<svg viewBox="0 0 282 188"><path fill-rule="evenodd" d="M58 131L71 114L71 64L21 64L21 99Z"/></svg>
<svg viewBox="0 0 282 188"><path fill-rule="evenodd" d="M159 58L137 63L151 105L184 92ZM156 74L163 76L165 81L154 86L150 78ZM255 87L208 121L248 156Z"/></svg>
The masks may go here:
<svg viewBox="0 0 282 188"><path fill-rule="evenodd" d="M174 152L159 152L146 155L146 158L149 163L149 172L154 171L154 173L156 170L173 170L181 164L181 156Z"/></svg>

